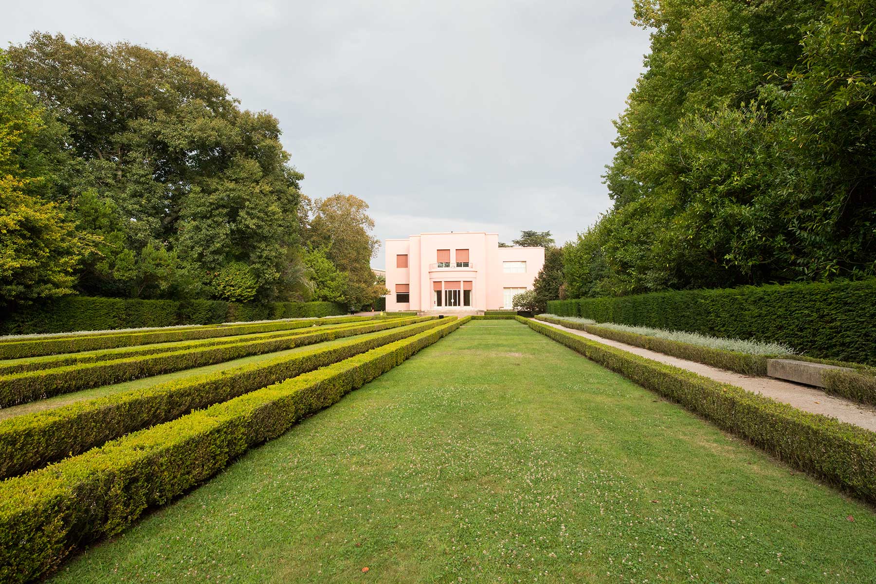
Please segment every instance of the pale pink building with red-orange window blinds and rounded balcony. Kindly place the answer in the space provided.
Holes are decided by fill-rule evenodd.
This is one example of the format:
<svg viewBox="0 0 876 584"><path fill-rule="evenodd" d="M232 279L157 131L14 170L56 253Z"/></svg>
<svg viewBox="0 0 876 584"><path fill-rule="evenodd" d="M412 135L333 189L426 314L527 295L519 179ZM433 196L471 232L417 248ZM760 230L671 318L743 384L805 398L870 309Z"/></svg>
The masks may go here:
<svg viewBox="0 0 876 584"><path fill-rule="evenodd" d="M545 263L544 248L500 248L498 234L483 231L387 239L385 250L391 312L512 308Z"/></svg>

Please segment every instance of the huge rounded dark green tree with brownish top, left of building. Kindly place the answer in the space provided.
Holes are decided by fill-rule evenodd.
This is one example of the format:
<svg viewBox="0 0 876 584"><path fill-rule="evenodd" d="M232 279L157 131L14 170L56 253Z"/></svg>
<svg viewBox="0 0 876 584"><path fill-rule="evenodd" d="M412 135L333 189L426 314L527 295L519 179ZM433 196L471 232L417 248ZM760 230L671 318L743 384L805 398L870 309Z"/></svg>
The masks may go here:
<svg viewBox="0 0 876 584"><path fill-rule="evenodd" d="M258 299L283 298L296 261L299 181L265 112L241 110L190 61L128 43L34 33L6 69L68 128L78 161L56 191L104 235L85 292L209 293L244 263Z"/></svg>

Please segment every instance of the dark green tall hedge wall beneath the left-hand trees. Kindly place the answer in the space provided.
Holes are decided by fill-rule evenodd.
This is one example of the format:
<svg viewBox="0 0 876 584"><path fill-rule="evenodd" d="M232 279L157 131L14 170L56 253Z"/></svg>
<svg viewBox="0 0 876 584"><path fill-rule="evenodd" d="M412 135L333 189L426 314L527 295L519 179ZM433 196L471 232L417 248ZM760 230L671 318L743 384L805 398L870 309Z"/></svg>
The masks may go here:
<svg viewBox="0 0 876 584"><path fill-rule="evenodd" d="M176 301L65 296L3 317L0 321L0 334L208 325L345 313L346 306L336 302L237 304L221 300Z"/></svg>

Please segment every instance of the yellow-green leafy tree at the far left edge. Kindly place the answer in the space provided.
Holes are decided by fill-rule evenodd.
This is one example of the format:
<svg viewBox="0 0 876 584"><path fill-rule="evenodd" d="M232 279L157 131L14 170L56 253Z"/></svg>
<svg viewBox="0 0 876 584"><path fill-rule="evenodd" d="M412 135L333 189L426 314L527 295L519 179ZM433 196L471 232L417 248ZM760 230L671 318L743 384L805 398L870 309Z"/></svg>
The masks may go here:
<svg viewBox="0 0 876 584"><path fill-rule="evenodd" d="M0 52L0 306L72 292L74 269L94 238L53 200L69 163L64 129L24 85L4 72Z"/></svg>

